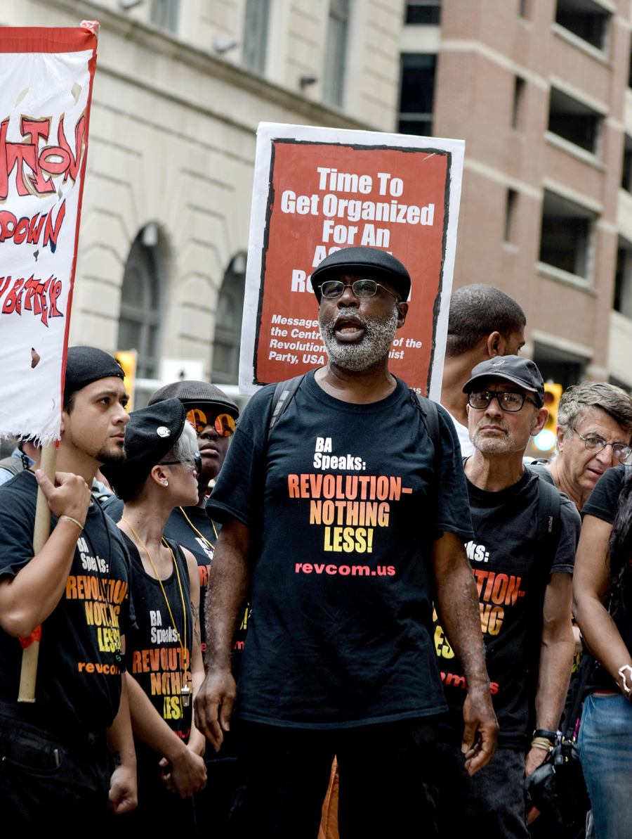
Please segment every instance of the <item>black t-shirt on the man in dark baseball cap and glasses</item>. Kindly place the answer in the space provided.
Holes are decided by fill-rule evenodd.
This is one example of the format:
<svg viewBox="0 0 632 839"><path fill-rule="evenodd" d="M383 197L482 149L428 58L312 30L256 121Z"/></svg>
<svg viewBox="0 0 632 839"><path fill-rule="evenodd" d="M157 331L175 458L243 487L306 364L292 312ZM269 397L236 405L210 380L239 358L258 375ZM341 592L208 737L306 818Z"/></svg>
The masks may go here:
<svg viewBox="0 0 632 839"><path fill-rule="evenodd" d="M529 717L528 649L534 640L537 645L541 635L538 604L550 579L547 569L541 567L546 557L538 557L536 552L538 477L526 469L520 481L501 492L485 492L468 481L468 492L475 535L466 550L479 589L487 671L500 724L499 743L522 748ZM550 571L572 574L581 521L566 496L562 496L560 515L560 539ZM533 633L537 633L535 638ZM449 724L455 737L460 738L463 670L439 623L435 623L434 641L450 706Z"/></svg>

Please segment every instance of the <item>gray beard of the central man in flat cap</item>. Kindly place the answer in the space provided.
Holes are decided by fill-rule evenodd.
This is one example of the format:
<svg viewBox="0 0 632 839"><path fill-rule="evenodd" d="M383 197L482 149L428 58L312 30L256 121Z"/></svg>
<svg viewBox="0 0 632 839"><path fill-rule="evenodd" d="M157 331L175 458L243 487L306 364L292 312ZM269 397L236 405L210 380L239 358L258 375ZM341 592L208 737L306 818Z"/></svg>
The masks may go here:
<svg viewBox="0 0 632 839"><path fill-rule="evenodd" d="M361 373L388 356L397 331L398 313L396 307L393 307L386 320L369 320L358 312L354 312L353 315L365 328L365 334L359 344L339 343L335 336L335 319L325 320L319 315L320 334L323 336L329 362L344 370Z"/></svg>

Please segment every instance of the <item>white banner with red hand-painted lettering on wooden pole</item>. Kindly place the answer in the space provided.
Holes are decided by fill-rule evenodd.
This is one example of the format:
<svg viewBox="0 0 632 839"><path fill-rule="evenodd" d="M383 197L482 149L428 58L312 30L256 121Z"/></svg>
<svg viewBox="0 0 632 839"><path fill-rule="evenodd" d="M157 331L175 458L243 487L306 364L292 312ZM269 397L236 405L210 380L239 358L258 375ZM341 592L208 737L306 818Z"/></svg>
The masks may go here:
<svg viewBox="0 0 632 839"><path fill-rule="evenodd" d="M60 436L96 27L0 29L0 435Z"/></svg>

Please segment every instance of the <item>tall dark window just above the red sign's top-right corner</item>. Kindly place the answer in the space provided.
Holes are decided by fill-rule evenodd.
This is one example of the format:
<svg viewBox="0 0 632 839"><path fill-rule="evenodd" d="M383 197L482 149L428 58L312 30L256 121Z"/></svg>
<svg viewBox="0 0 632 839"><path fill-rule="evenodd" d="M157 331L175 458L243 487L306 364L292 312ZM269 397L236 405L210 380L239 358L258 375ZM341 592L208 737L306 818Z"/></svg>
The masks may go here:
<svg viewBox="0 0 632 839"><path fill-rule="evenodd" d="M436 65L436 55L401 56L399 133L432 136Z"/></svg>

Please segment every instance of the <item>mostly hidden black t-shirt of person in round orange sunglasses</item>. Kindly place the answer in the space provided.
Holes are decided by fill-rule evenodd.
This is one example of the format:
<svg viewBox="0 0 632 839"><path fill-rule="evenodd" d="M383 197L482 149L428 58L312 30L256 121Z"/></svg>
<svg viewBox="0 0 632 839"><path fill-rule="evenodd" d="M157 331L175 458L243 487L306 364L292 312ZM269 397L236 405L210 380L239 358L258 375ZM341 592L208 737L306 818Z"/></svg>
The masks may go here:
<svg viewBox="0 0 632 839"><path fill-rule="evenodd" d="M115 522L121 520L125 504L116 495L103 503L103 509ZM186 518L185 518L186 517ZM187 521L187 518L189 521ZM190 522L190 524L189 524ZM191 526L193 525L193 526ZM167 539L173 539L178 545L190 550L198 563L199 571L199 631L201 639L202 654L206 652L206 628L205 628L205 597L206 586L209 581L210 563L215 553L215 542L219 534L221 524L212 522L206 515L206 511L199 507L179 507L172 510L171 515L164 525L164 535ZM195 531L199 531L196 533ZM199 534L202 534L201 536ZM208 544L210 543L210 545ZM239 679L241 670L241 653L246 643L246 629L248 626L248 609L244 610L241 618L241 625L237 630L233 644L232 664L233 675ZM215 752L214 752L215 753Z"/></svg>

